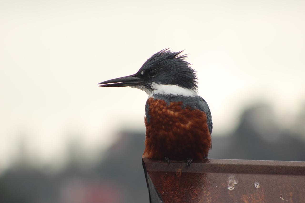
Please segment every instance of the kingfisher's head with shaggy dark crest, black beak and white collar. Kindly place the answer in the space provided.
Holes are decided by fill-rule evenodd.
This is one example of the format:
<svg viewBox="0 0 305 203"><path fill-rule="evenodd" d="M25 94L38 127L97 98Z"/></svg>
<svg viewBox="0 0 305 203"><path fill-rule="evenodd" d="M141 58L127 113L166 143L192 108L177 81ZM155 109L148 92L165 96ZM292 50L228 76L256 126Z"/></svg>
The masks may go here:
<svg viewBox="0 0 305 203"><path fill-rule="evenodd" d="M197 77L186 55L168 48L152 55L134 75L99 83L100 87L137 87L147 94L197 95Z"/></svg>

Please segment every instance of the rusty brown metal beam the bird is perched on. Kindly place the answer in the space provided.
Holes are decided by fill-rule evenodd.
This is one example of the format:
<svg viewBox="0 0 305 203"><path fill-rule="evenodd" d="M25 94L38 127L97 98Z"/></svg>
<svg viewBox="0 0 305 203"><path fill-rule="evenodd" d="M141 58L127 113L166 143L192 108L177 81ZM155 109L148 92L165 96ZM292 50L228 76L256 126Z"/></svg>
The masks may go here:
<svg viewBox="0 0 305 203"><path fill-rule="evenodd" d="M167 162L143 158L151 202L305 202L305 162L206 159ZM156 191L154 191L156 190Z"/></svg>

